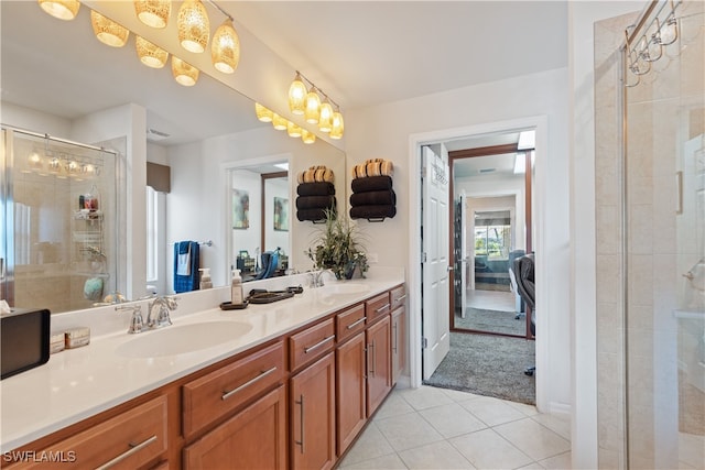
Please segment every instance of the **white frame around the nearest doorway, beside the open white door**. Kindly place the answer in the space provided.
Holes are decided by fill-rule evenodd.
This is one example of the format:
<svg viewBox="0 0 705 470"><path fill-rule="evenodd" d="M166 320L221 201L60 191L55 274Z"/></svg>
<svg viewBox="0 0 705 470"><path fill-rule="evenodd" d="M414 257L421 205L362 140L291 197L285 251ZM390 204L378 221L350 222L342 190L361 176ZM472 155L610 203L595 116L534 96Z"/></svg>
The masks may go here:
<svg viewBox="0 0 705 470"><path fill-rule="evenodd" d="M468 125L463 128L445 129L440 131L414 133L409 136L409 291L421 292L421 146L441 143L449 140L463 139L471 135L506 133L522 129L535 128L536 130L536 154L534 161L533 179L533 247L538 253L545 253L545 214L546 214L546 168L545 162L549 152L547 135L549 119L545 114L528 117L522 119L490 122ZM552 313L549 311L547 300L547 273L544 269L544 261L536 259L536 305L541 305L541 315L536 316L536 331L550 331L547 328ZM449 293L448 293L449 295ZM410 384L419 387L422 384L421 364L423 363L421 350L421 315L422 302L420 295L413 295L409 302L409 370ZM443 315L448 315L447 311ZM546 391L549 390L549 378L551 376L549 359L549 338L546 335L536 335L536 408L540 412L549 409ZM518 370L518 373L522 373Z"/></svg>

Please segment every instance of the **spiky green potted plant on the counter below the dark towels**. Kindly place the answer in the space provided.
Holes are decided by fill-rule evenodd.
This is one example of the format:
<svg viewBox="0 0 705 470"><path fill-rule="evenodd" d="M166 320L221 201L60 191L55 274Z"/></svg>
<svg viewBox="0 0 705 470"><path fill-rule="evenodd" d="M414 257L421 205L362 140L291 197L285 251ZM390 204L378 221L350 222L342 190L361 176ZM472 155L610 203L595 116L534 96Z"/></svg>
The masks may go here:
<svg viewBox="0 0 705 470"><path fill-rule="evenodd" d="M359 269L360 275L365 277L369 265L357 225L335 210L326 209L325 215L325 225L319 230L314 247L306 251L314 269L330 270L339 280L351 278L356 269Z"/></svg>

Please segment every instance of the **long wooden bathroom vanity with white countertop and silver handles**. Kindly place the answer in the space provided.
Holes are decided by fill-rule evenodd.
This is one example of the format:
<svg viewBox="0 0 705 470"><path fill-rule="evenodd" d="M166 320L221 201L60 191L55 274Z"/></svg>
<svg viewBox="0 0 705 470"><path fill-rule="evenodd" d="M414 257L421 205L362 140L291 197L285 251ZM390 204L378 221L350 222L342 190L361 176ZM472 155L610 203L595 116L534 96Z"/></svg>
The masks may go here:
<svg viewBox="0 0 705 470"><path fill-rule="evenodd" d="M404 369L404 306L356 280L98 337L2 382L2 466L332 468Z"/></svg>

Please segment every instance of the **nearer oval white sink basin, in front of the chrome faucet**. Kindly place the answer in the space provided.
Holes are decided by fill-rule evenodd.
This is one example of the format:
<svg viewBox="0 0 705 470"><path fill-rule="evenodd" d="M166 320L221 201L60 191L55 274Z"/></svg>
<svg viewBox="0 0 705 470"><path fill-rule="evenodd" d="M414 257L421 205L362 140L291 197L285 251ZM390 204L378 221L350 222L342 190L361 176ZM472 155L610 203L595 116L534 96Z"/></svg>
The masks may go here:
<svg viewBox="0 0 705 470"><path fill-rule="evenodd" d="M251 329L251 325L239 321L203 321L167 326L139 334L134 339L120 345L116 352L128 358L185 354L237 339L250 332Z"/></svg>

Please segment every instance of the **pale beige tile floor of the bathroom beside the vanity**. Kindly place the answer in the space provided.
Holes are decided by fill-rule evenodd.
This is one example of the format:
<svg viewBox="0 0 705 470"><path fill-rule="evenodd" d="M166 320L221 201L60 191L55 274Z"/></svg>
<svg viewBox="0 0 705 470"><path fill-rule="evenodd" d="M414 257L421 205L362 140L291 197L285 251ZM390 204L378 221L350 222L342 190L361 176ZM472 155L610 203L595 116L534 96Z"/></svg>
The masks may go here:
<svg viewBox="0 0 705 470"><path fill-rule="evenodd" d="M570 416L454 390L392 391L340 469L570 469Z"/></svg>

